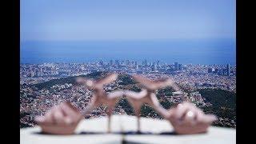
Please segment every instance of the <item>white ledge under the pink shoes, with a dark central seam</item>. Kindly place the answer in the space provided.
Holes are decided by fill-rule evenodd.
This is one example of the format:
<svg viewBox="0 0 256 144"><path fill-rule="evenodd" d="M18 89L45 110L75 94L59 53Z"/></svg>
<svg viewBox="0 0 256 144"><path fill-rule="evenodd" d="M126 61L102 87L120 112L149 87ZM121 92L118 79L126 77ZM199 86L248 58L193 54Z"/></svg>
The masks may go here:
<svg viewBox="0 0 256 144"><path fill-rule="evenodd" d="M21 144L66 144L66 143L236 143L236 130L211 126L206 134L193 135L163 135L161 132L173 131L172 126L165 120L141 118L142 133L154 134L113 134L117 132L136 131L137 121L134 116L114 115L111 120L112 134L106 133L107 118L91 118L79 123L73 135L38 134L40 127L25 128L20 130ZM96 134L81 134L91 132Z"/></svg>

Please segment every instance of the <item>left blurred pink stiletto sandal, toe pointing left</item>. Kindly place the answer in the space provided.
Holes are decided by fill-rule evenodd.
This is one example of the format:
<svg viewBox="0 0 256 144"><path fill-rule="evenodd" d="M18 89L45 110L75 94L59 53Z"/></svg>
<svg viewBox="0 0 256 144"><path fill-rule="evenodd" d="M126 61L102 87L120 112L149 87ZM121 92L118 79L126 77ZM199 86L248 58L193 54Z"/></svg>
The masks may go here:
<svg viewBox="0 0 256 144"><path fill-rule="evenodd" d="M42 131L48 134L73 134L75 127L78 125L86 114L98 106L106 105L108 114L108 129L110 132L110 116L118 99L122 97L122 91L115 91L109 94L103 90L103 86L115 81L117 74L109 74L106 78L98 81L86 78L78 78L79 84L86 85L90 90L94 90L92 101L82 112L71 105L70 102L62 102L58 106L52 107L44 116L36 117L35 122L42 127Z"/></svg>

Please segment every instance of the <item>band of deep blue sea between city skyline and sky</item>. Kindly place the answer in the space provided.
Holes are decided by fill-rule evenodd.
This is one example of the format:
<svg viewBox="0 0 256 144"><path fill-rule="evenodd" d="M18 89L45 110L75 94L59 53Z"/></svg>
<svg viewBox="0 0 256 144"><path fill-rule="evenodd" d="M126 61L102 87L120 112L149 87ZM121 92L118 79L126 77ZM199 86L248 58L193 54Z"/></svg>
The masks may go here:
<svg viewBox="0 0 256 144"><path fill-rule="evenodd" d="M95 62L110 59L182 64L236 63L235 39L21 42L21 63Z"/></svg>

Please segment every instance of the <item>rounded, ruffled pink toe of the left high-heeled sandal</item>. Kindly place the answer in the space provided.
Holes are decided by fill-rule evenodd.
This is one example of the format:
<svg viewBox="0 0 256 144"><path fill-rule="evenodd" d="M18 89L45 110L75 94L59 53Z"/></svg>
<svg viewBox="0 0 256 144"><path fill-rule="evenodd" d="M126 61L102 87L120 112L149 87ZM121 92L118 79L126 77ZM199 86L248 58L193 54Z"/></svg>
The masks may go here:
<svg viewBox="0 0 256 144"><path fill-rule="evenodd" d="M70 102L62 102L52 107L44 116L34 120L47 134L73 134L78 122L82 119L79 110Z"/></svg>

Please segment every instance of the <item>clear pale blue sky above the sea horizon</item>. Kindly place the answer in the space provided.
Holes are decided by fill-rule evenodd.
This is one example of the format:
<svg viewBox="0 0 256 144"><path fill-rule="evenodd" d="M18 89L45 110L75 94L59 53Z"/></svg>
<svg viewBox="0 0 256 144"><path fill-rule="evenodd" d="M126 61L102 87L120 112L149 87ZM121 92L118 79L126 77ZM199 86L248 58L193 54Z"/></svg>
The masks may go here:
<svg viewBox="0 0 256 144"><path fill-rule="evenodd" d="M234 0L21 0L26 41L235 38Z"/></svg>

